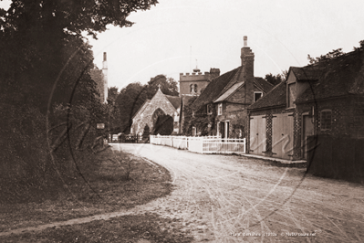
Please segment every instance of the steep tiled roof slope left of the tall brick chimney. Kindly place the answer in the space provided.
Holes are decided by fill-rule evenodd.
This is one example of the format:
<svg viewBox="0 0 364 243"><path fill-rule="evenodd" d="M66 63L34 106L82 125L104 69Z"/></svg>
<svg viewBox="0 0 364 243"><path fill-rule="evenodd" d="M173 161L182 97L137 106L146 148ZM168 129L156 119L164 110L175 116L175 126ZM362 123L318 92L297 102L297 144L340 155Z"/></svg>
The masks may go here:
<svg viewBox="0 0 364 243"><path fill-rule="evenodd" d="M213 79L203 90L203 93L193 102L192 108L197 109L217 99L225 86L233 79L238 69L231 70Z"/></svg>

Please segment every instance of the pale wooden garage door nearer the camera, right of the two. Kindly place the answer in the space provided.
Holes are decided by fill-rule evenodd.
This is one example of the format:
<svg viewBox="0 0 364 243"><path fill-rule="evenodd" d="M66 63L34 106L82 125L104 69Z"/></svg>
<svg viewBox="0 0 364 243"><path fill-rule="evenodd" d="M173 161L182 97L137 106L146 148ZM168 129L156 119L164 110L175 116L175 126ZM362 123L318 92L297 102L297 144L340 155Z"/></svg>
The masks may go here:
<svg viewBox="0 0 364 243"><path fill-rule="evenodd" d="M291 159L293 156L293 113L275 114L272 120L273 157Z"/></svg>

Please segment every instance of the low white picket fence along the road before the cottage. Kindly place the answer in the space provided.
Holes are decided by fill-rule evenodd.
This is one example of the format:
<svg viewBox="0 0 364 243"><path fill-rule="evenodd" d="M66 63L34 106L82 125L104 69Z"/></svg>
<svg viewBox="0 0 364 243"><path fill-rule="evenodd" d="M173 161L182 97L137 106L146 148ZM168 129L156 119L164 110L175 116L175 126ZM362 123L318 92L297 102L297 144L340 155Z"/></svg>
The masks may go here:
<svg viewBox="0 0 364 243"><path fill-rule="evenodd" d="M245 153L245 139L224 139L218 136L187 137L151 135L151 143L195 153Z"/></svg>

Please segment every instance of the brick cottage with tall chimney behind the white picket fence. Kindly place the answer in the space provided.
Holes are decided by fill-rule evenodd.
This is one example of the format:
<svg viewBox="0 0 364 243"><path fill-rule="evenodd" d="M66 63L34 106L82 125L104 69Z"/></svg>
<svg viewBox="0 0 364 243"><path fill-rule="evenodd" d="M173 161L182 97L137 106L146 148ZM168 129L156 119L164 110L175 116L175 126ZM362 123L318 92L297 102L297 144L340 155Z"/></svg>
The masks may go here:
<svg viewBox="0 0 364 243"><path fill-rule="evenodd" d="M255 55L247 47L241 49L242 65L213 79L192 104L196 114L215 116L208 124L208 133L223 138L243 138L246 135L247 107L273 89L265 79L254 77ZM196 133L205 129L196 125ZM200 131L199 131L200 130Z"/></svg>

